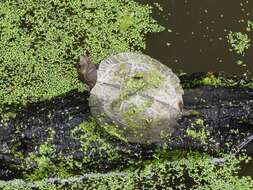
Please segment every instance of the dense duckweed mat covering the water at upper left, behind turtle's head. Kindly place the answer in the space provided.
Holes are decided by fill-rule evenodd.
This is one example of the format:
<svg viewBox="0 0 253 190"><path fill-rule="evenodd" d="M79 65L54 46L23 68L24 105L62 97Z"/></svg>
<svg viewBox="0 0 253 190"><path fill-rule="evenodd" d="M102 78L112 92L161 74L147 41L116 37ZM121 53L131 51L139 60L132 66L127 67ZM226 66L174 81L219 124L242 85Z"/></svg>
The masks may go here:
<svg viewBox="0 0 253 190"><path fill-rule="evenodd" d="M0 3L0 107L83 90L75 64L139 51L162 28L133 0L12 0Z"/></svg>

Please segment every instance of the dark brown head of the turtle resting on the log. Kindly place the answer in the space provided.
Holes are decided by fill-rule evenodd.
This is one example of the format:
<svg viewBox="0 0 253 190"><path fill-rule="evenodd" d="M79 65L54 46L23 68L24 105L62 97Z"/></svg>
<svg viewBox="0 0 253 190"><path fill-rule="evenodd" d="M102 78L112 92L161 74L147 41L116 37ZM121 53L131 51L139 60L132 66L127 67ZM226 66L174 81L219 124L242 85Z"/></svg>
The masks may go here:
<svg viewBox="0 0 253 190"><path fill-rule="evenodd" d="M91 63L87 56L80 56L79 64L77 65L79 79L89 86L91 90L97 82L97 67Z"/></svg>

